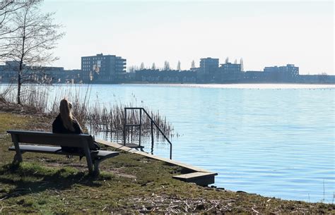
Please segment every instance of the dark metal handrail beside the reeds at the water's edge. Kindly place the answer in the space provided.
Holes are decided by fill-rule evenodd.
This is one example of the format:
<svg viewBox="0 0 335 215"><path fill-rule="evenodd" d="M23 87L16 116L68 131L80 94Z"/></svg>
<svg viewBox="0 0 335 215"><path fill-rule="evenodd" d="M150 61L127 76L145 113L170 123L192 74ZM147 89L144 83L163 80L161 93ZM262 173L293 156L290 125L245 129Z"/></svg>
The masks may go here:
<svg viewBox="0 0 335 215"><path fill-rule="evenodd" d="M139 124L127 124L127 110L140 110L140 123ZM146 116L148 116L148 118L151 121L151 149L153 149L153 141L154 141L154 139L153 139L153 125L155 125L155 127L163 135L165 140L167 140L167 142L170 144L170 159L172 159L172 143L171 143L171 141L169 140L169 138L167 138L165 133L163 133L163 131L160 130L159 126L157 125L157 123L155 123L155 121L153 121L153 118L149 115L149 113L145 109L140 108L140 107L125 107L124 108L124 130L123 130L124 146L126 145L126 128L127 128L127 126L139 126L139 146L141 147L142 111L144 113L146 113Z"/></svg>

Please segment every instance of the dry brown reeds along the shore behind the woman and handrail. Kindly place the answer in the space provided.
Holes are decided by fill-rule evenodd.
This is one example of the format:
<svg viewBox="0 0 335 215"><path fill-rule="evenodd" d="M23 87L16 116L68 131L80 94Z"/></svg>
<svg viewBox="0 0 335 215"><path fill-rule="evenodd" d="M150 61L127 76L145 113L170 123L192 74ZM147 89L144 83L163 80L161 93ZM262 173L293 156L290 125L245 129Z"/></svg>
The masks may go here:
<svg viewBox="0 0 335 215"><path fill-rule="evenodd" d="M81 125L85 125L89 133L106 133L110 134L111 137L121 139L123 137L124 128L124 108L125 107L137 107L136 97L133 95L133 101L128 104L122 101L114 102L110 106L105 106L100 102L100 99L96 97L96 102L90 102L91 86L88 85L85 90L83 87L75 87L67 85L64 86L52 86L57 88L57 93L52 92L52 88L46 85L25 85L23 90L21 101L22 106L29 109L33 109L35 112L56 117L59 113L59 102L64 98L64 94L68 97L69 101L74 106L74 116ZM16 102L16 90L15 86L9 85L8 87L2 87L0 89L0 100L14 104ZM143 107L143 106L141 106ZM166 118L161 116L159 111L151 111L148 107L143 107L151 115L155 123L158 124L160 129L167 135L172 137L174 134L171 123L167 122ZM129 110L127 111L127 123L139 124L139 111ZM142 115L142 134L150 135L151 121L146 115ZM136 128L127 129L127 139L133 140L138 135L139 130ZM154 129L155 137L161 138L158 130Z"/></svg>

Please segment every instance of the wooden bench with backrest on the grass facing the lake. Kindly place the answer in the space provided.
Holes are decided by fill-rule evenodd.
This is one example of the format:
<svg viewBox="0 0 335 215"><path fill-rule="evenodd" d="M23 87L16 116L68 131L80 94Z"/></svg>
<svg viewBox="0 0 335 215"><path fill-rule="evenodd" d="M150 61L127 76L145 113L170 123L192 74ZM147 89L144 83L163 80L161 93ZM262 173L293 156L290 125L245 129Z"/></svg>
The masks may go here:
<svg viewBox="0 0 335 215"><path fill-rule="evenodd" d="M90 174L98 176L100 162L119 155L119 152L90 150L94 148L94 138L92 135L65 135L26 130L8 130L7 133L11 134L11 139L14 143L14 146L9 147L9 150L16 151L13 163L22 162L23 159L21 154L25 152L86 156L87 166ZM23 145L22 143L33 145ZM53 147L45 145L53 145ZM83 153L64 152L61 150L62 146L81 148Z"/></svg>

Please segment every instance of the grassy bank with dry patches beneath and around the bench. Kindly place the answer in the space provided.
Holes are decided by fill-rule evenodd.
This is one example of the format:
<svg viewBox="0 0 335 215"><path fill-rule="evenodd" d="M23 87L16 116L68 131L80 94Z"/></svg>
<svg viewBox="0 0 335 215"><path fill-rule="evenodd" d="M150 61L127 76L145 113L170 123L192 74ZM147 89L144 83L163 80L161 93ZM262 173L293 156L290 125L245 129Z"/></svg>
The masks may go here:
<svg viewBox="0 0 335 215"><path fill-rule="evenodd" d="M8 129L51 130L51 118L0 113L0 213L180 213L335 214L334 204L286 201L202 188L172 179L183 169L122 152L101 164L90 178L86 160L27 153L11 166ZM109 148L113 150L112 148Z"/></svg>

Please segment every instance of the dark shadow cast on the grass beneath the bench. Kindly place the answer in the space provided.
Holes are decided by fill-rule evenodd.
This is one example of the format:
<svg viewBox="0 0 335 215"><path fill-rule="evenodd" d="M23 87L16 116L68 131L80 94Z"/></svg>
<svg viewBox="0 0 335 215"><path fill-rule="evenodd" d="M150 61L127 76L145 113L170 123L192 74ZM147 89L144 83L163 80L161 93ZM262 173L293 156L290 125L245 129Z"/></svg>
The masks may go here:
<svg viewBox="0 0 335 215"><path fill-rule="evenodd" d="M74 171L72 168L44 168L36 164L6 164L0 167L0 185L8 185L2 198L17 197L45 190L68 190L72 185L86 185L98 188L100 180L109 180L109 174L93 177L88 173ZM14 186L14 188L13 188ZM4 189L2 190L4 192Z"/></svg>

